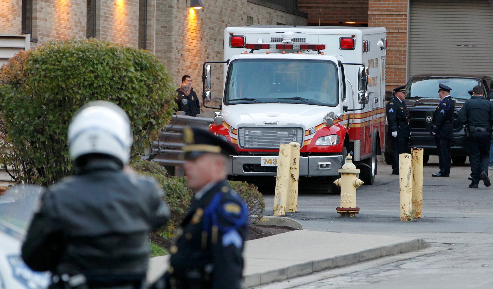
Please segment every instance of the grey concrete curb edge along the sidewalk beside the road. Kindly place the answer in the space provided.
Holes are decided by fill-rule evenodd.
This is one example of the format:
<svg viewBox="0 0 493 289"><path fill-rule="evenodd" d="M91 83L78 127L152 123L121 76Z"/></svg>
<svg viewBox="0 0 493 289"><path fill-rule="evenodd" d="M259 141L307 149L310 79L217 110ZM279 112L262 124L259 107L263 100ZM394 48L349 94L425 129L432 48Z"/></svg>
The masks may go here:
<svg viewBox="0 0 493 289"><path fill-rule="evenodd" d="M388 246L377 247L348 255L335 256L325 259L307 261L300 264L288 265L281 269L257 273L245 276L244 288L251 288L275 281L282 281L294 277L308 275L317 271L344 267L371 259L408 253L431 247L423 239L414 239L407 242L395 243Z"/></svg>

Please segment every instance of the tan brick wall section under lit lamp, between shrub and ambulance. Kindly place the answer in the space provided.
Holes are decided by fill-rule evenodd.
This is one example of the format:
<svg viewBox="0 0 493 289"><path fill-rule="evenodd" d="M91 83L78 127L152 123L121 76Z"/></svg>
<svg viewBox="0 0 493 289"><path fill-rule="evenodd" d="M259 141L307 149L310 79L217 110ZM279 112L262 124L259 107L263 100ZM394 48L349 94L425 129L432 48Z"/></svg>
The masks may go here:
<svg viewBox="0 0 493 289"><path fill-rule="evenodd" d="M183 74L190 75L194 91L201 100L202 65L205 61L223 60L223 33L226 27L246 26L246 16L253 17L253 25L307 24L305 17L246 0L203 1L205 8L197 11L187 6L189 1L158 3L155 54L172 72L176 88L181 84ZM212 66L212 97L222 96L223 65ZM208 109L204 113L208 117L213 115Z"/></svg>

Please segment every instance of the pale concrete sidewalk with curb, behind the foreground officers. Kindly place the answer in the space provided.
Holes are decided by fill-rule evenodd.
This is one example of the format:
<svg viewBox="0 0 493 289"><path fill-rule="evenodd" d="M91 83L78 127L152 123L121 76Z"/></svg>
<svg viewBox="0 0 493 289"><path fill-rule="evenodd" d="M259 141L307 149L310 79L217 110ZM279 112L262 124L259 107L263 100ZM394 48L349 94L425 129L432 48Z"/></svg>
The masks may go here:
<svg viewBox="0 0 493 289"><path fill-rule="evenodd" d="M295 230L246 241L245 288L370 259L430 247L423 239ZM168 257L150 259L148 281L163 274Z"/></svg>

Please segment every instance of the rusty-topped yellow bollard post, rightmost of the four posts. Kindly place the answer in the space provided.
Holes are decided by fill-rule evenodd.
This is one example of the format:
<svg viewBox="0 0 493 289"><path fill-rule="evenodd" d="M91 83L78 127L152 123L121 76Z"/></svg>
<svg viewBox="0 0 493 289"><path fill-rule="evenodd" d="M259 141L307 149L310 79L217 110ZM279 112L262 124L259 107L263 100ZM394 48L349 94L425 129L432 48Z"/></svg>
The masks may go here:
<svg viewBox="0 0 493 289"><path fill-rule="evenodd" d="M423 219L423 148L412 148L413 218Z"/></svg>

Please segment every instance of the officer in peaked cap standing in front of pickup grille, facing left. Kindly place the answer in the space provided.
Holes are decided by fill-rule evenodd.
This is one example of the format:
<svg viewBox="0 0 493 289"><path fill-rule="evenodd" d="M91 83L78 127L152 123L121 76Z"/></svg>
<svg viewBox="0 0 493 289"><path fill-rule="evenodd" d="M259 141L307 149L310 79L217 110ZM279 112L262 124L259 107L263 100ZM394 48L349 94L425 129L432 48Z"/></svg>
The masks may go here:
<svg viewBox="0 0 493 289"><path fill-rule="evenodd" d="M431 134L435 136L436 148L438 150L438 163L440 171L432 174L432 177L448 177L450 175L450 143L454 138L452 123L454 122L455 101L450 96L450 87L439 83L438 95L440 103L433 113L433 127Z"/></svg>

